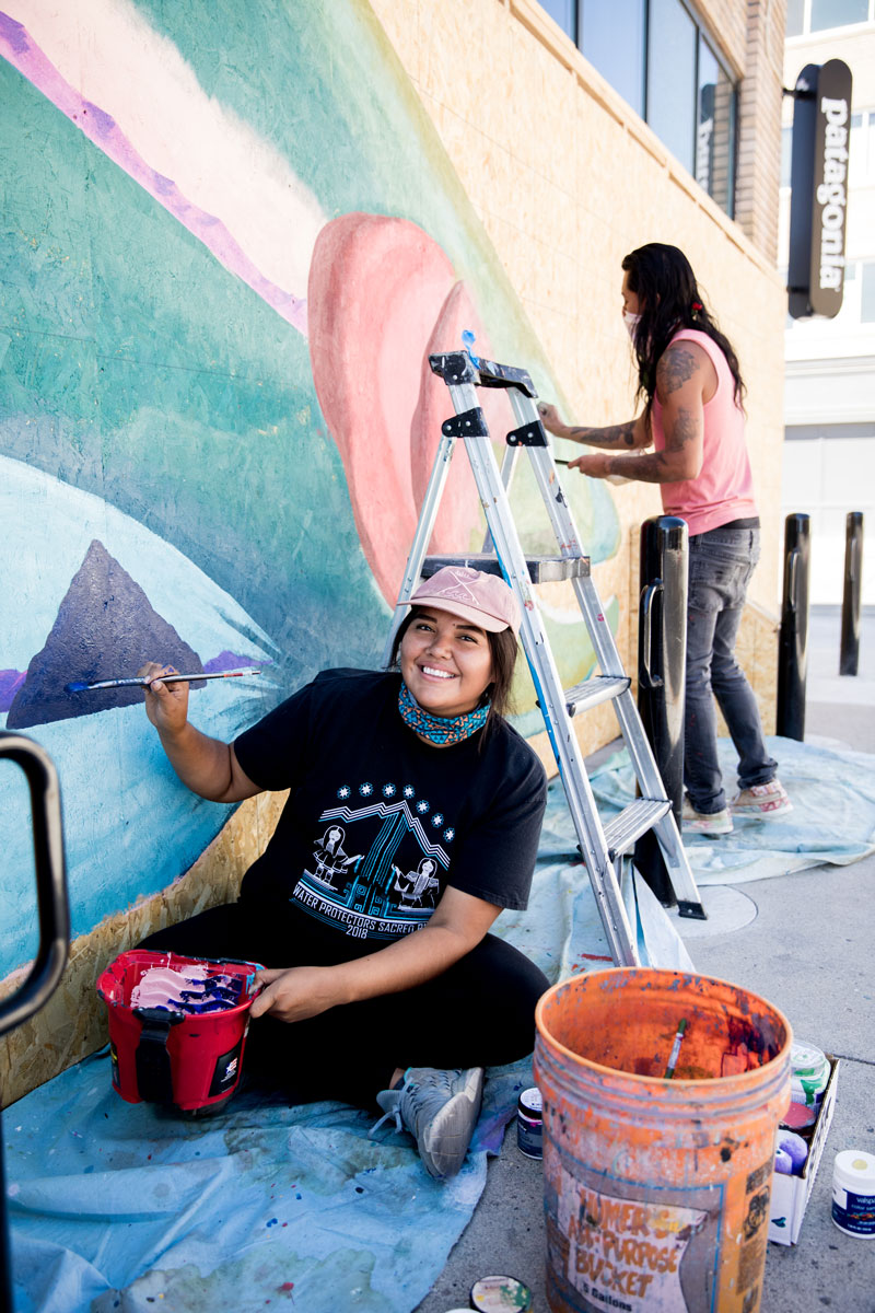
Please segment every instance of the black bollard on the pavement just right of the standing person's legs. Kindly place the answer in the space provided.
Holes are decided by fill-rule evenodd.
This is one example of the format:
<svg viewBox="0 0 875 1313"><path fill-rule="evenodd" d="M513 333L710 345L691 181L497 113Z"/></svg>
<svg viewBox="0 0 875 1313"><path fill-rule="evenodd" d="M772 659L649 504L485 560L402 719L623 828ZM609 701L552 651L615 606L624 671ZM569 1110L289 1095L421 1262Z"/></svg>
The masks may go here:
<svg viewBox="0 0 875 1313"><path fill-rule="evenodd" d="M808 674L808 566L811 520L784 520L784 591L778 638L777 733L802 742L805 737L805 678Z"/></svg>

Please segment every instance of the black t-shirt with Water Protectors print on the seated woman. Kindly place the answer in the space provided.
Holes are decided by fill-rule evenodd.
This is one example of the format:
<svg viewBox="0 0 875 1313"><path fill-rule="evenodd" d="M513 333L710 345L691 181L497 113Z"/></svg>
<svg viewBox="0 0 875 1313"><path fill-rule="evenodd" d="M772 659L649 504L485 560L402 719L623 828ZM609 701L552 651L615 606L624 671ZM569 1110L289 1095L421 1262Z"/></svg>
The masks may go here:
<svg viewBox="0 0 875 1313"><path fill-rule="evenodd" d="M324 671L235 742L264 789L291 789L241 899L306 913L350 956L424 926L446 885L499 907L529 899L547 785L500 722L451 747L404 725L400 675ZM370 944L367 941L371 941Z"/></svg>

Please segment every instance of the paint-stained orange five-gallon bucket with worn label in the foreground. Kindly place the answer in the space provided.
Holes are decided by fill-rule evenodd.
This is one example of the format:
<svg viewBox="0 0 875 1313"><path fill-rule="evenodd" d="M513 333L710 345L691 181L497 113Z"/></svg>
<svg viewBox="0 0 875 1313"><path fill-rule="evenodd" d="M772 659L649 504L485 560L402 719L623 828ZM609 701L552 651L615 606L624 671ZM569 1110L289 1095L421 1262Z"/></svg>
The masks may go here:
<svg viewBox="0 0 875 1313"><path fill-rule="evenodd" d="M555 985L537 1023L554 1313L757 1313L786 1018L725 981L619 968Z"/></svg>

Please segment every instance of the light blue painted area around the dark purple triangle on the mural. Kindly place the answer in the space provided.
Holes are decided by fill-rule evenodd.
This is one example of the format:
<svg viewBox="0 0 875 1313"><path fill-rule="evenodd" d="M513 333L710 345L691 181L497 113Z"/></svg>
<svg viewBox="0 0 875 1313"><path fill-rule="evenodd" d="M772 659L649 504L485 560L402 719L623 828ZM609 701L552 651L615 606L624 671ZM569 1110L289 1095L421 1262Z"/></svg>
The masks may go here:
<svg viewBox="0 0 875 1313"><path fill-rule="evenodd" d="M203 660L226 649L253 666L273 659L273 643L232 597L181 551L100 498L0 457L0 523L18 563L0 591L0 633L12 635L7 651L22 654L25 663L42 647L94 537ZM71 679L77 674L71 671ZM193 722L206 734L232 739L265 705L274 705L278 678L268 668L261 676L215 680L193 691ZM5 720L0 717L0 729ZM142 706L52 721L25 733L46 748L60 779L73 935L164 889L232 810L180 784ZM21 772L9 762L3 767L0 976L35 947L30 804Z"/></svg>

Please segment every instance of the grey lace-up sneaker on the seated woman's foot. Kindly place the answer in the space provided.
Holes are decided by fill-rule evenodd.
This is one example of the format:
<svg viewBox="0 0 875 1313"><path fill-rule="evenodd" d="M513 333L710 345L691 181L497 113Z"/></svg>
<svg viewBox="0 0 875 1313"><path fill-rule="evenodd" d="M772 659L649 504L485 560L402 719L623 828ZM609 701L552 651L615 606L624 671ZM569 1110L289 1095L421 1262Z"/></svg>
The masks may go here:
<svg viewBox="0 0 875 1313"><path fill-rule="evenodd" d="M408 1067L397 1088L376 1095L383 1116L371 1134L394 1116L395 1129L407 1128L416 1138L429 1175L455 1176L468 1152L481 1099L483 1067Z"/></svg>

